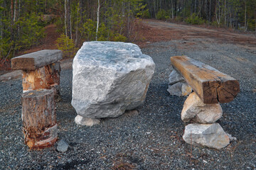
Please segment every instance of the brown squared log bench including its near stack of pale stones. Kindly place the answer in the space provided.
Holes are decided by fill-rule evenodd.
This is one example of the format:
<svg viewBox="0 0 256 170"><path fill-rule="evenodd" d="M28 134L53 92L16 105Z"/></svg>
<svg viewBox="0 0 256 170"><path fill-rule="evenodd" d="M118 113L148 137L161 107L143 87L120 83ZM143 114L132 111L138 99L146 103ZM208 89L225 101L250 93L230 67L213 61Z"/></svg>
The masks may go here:
<svg viewBox="0 0 256 170"><path fill-rule="evenodd" d="M192 123L186 125L183 140L215 149L226 147L232 137L215 122L223 115L220 103L233 101L239 93L238 80L186 56L171 57L171 64L194 91L181 111L181 120Z"/></svg>

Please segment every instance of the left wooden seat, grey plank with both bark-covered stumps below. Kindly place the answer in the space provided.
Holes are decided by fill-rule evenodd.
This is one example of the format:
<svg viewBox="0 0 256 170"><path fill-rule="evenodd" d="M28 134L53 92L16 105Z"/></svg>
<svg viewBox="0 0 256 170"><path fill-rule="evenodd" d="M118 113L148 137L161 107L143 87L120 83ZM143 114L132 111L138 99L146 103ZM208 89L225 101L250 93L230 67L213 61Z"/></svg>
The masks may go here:
<svg viewBox="0 0 256 170"><path fill-rule="evenodd" d="M60 98L61 50L41 50L14 57L12 69L23 71L24 142L31 149L52 146L58 136L55 101Z"/></svg>

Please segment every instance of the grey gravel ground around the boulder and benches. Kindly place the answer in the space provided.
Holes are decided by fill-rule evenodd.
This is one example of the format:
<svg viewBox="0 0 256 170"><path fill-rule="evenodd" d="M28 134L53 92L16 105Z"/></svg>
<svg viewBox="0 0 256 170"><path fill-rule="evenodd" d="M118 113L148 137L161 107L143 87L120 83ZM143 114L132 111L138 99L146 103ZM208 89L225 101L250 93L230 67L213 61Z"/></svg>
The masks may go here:
<svg viewBox="0 0 256 170"><path fill-rule="evenodd" d="M239 45L197 38L155 42L142 49L156 63L138 114L105 118L100 125L74 122L72 70L61 72L63 100L57 103L58 137L69 143L31 151L21 131L21 80L0 84L0 169L256 169L256 52ZM240 81L240 94L221 104L218 123L238 138L224 149L192 147L183 139L181 110L186 97L170 96L170 57L188 55Z"/></svg>

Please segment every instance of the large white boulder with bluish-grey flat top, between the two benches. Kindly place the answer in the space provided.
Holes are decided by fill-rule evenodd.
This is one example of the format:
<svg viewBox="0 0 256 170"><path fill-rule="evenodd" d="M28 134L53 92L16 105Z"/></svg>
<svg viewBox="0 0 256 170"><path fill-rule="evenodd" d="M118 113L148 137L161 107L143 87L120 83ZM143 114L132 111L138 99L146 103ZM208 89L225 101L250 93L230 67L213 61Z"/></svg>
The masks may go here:
<svg viewBox="0 0 256 170"><path fill-rule="evenodd" d="M73 60L72 105L84 118L114 118L144 102L155 64L137 45L84 42Z"/></svg>

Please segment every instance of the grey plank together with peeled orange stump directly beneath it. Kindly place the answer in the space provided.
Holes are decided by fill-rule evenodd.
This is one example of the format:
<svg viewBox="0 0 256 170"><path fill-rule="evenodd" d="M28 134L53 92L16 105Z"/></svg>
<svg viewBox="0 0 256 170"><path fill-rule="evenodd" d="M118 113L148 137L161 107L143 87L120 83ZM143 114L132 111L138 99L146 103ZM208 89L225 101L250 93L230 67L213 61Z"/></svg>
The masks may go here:
<svg viewBox="0 0 256 170"><path fill-rule="evenodd" d="M12 69L23 70L23 92L38 89L53 89L55 100L60 99L60 50L41 50L14 57Z"/></svg>

